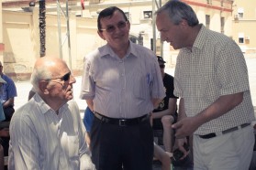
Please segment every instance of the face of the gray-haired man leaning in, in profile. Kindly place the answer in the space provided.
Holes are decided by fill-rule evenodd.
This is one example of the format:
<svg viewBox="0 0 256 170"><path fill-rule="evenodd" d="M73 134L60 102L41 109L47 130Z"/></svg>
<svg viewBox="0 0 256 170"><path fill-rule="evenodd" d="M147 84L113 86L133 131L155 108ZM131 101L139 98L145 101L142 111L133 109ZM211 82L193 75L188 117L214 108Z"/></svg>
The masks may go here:
<svg viewBox="0 0 256 170"><path fill-rule="evenodd" d="M167 12L156 17L156 26L161 33L161 40L170 43L174 49L184 48L185 35L182 24L174 25Z"/></svg>

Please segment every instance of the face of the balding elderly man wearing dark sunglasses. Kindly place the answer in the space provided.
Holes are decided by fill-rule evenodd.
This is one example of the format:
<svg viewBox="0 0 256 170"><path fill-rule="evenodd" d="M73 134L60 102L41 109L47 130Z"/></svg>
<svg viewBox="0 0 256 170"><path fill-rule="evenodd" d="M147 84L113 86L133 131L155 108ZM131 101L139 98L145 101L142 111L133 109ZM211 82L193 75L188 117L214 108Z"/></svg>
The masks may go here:
<svg viewBox="0 0 256 170"><path fill-rule="evenodd" d="M47 86L49 97L56 102L60 101L61 103L65 103L73 98L72 84L75 83L76 80L66 64L61 63L56 66L58 69L52 70L52 79L49 80Z"/></svg>

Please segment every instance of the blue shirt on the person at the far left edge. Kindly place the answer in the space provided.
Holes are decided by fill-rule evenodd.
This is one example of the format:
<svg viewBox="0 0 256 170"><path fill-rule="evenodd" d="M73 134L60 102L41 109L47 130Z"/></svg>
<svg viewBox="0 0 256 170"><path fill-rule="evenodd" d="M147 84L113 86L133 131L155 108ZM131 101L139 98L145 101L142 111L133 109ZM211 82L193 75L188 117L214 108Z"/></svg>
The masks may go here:
<svg viewBox="0 0 256 170"><path fill-rule="evenodd" d="M1 95L1 101L4 103L10 98L17 97L17 89L14 81L5 74L2 75L2 78L6 80L6 83L3 84L3 95Z"/></svg>

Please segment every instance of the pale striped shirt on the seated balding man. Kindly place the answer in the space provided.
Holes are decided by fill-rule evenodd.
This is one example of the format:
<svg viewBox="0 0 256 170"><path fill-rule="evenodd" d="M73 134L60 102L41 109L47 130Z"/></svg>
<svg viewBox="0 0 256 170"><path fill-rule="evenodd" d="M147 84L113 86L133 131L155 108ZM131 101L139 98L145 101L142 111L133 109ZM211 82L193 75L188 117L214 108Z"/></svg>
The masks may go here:
<svg viewBox="0 0 256 170"><path fill-rule="evenodd" d="M57 115L36 93L12 117L9 169L93 169L84 135L74 101Z"/></svg>

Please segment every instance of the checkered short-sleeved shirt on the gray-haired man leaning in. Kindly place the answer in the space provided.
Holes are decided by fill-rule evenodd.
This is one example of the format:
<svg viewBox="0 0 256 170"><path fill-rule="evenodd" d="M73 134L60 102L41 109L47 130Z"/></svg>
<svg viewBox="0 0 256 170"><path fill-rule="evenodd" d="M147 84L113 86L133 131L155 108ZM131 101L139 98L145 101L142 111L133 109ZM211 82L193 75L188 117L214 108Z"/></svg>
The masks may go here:
<svg viewBox="0 0 256 170"><path fill-rule="evenodd" d="M217 133L255 119L248 70L239 46L202 26L193 48L180 50L175 69L174 94L184 98L186 115L195 116L220 96L241 91L243 101L237 107L206 122L195 134Z"/></svg>

